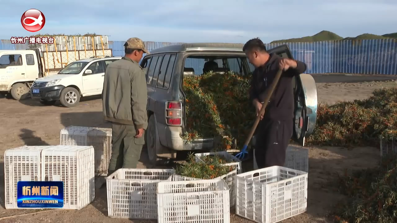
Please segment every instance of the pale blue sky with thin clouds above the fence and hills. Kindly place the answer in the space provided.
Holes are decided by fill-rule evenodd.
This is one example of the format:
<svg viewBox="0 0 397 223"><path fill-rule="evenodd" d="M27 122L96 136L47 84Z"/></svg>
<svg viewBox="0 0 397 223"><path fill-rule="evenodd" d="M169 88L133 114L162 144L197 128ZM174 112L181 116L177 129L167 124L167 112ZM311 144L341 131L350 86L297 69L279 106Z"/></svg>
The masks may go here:
<svg viewBox="0 0 397 223"><path fill-rule="evenodd" d="M397 32L396 0L2 0L0 39L36 34L96 33L112 41L263 42L314 35L342 37ZM36 33L23 29L31 8L46 19Z"/></svg>

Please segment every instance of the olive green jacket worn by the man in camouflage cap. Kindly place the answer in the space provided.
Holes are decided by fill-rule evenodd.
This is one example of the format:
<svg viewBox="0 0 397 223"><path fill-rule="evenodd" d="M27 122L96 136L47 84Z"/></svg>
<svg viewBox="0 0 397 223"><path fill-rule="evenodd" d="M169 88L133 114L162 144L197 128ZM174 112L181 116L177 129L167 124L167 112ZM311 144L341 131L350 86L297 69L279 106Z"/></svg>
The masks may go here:
<svg viewBox="0 0 397 223"><path fill-rule="evenodd" d="M147 96L145 73L137 62L123 57L106 67L102 91L105 121L146 129Z"/></svg>

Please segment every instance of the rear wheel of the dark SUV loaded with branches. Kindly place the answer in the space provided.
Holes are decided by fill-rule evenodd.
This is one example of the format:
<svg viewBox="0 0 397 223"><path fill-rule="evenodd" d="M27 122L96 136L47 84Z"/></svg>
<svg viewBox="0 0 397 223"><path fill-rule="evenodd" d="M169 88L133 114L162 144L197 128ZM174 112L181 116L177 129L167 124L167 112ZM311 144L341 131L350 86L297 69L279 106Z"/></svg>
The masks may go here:
<svg viewBox="0 0 397 223"><path fill-rule="evenodd" d="M145 135L149 162L155 166L157 163L157 147L160 146L158 145L160 142L158 141L156 120L154 119L154 115L150 115Z"/></svg>

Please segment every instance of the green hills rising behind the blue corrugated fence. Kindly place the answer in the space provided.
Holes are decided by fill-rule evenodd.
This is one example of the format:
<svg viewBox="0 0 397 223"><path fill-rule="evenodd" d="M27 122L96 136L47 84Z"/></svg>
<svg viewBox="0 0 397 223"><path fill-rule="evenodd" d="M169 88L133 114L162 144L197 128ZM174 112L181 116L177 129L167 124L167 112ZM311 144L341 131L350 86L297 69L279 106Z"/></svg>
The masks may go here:
<svg viewBox="0 0 397 223"><path fill-rule="evenodd" d="M291 38L286 40L274 40L271 43L277 42L316 42L316 41L330 41L330 40L370 40L370 39L385 39L385 38L397 38L397 33L389 33L382 36L374 35L370 33L364 33L358 35L357 37L340 37L335 33L330 31L321 31L316 35L309 36L309 37L301 37L301 38Z"/></svg>

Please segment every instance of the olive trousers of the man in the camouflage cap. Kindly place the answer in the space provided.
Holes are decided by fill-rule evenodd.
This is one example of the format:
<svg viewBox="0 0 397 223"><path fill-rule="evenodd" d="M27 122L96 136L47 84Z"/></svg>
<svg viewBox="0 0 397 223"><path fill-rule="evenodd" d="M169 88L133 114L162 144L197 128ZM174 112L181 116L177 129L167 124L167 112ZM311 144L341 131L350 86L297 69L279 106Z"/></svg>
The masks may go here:
<svg viewBox="0 0 397 223"><path fill-rule="evenodd" d="M142 147L145 144L145 135L135 138L136 132L133 125L112 123L112 156L109 161L108 175L120 168L137 168Z"/></svg>

